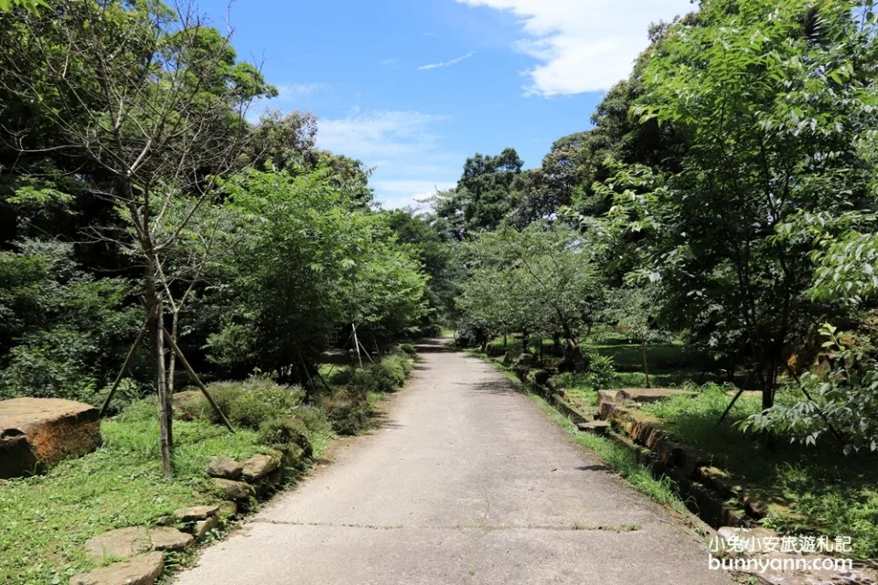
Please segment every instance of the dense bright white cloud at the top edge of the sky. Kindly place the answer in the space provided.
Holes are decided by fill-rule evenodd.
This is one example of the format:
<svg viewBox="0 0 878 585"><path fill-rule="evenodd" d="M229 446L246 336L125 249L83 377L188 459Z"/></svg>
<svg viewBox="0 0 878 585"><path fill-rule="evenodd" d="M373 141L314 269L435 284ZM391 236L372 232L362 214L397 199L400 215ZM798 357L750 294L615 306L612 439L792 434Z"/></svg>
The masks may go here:
<svg viewBox="0 0 878 585"><path fill-rule="evenodd" d="M690 0L457 0L517 16L520 51L541 63L528 71L529 93L607 90L628 76L648 45L652 22L693 9Z"/></svg>

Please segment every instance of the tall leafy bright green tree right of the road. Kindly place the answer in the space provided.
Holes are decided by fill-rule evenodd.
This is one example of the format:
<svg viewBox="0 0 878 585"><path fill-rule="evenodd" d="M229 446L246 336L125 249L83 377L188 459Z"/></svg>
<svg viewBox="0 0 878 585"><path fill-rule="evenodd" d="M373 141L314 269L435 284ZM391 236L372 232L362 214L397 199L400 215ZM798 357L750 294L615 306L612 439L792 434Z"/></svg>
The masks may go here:
<svg viewBox="0 0 878 585"><path fill-rule="evenodd" d="M785 348L813 326L796 218L872 205L858 145L875 127L873 16L854 8L702 3L650 49L635 109L680 135L680 168L634 166L604 184L671 323L745 356L765 408Z"/></svg>

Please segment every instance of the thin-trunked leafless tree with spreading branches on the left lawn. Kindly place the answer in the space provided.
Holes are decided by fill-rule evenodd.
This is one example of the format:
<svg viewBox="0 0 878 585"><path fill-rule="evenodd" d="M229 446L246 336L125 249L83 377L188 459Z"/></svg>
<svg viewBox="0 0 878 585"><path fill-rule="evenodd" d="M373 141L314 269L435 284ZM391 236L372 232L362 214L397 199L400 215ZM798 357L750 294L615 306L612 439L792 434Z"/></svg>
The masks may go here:
<svg viewBox="0 0 878 585"><path fill-rule="evenodd" d="M237 164L249 134L247 104L275 92L259 71L235 62L228 37L183 6L64 0L46 16L2 17L0 84L27 101L57 138L52 146L87 161L133 238L119 229L93 237L127 250L143 270L159 398L163 467L172 472L166 388L165 253L213 197L216 176ZM15 129L13 129L15 132ZM35 138L19 127L16 149ZM157 238L170 203L189 197L176 229Z"/></svg>

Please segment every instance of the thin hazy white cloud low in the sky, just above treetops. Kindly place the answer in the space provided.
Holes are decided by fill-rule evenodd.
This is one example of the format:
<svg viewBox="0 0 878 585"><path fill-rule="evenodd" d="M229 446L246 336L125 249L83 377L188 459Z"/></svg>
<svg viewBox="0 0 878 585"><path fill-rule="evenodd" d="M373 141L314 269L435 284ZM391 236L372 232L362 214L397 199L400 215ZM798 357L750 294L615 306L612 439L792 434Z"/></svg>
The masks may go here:
<svg viewBox="0 0 878 585"><path fill-rule="evenodd" d="M455 186L460 154L443 150L433 126L446 116L422 112L361 112L319 120L317 144L375 168L370 185L386 207L416 206L436 188Z"/></svg>

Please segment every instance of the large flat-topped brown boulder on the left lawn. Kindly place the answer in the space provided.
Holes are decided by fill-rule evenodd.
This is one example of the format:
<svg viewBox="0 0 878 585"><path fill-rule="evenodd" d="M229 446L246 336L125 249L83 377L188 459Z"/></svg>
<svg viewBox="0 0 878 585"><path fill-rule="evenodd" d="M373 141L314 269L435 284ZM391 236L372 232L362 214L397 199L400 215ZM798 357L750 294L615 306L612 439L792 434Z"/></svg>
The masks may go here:
<svg viewBox="0 0 878 585"><path fill-rule="evenodd" d="M64 399L0 401L0 478L41 473L101 445L99 411Z"/></svg>

